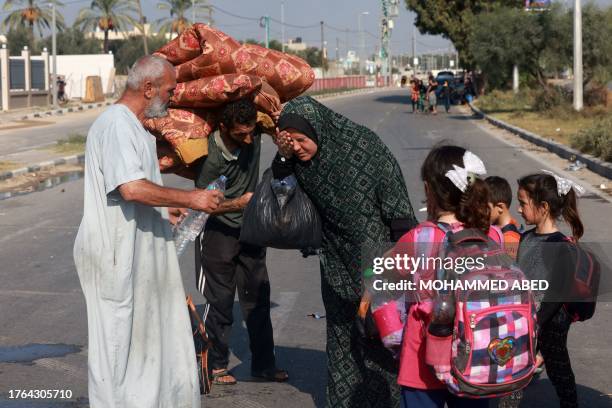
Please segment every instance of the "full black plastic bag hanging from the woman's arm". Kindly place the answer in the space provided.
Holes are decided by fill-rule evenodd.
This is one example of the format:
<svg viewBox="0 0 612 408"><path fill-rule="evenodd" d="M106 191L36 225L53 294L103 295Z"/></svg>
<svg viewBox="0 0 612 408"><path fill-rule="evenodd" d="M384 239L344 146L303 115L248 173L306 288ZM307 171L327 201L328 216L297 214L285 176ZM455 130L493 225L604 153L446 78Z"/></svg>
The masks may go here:
<svg viewBox="0 0 612 408"><path fill-rule="evenodd" d="M244 211L240 242L278 249L321 247L321 217L294 175L264 172Z"/></svg>

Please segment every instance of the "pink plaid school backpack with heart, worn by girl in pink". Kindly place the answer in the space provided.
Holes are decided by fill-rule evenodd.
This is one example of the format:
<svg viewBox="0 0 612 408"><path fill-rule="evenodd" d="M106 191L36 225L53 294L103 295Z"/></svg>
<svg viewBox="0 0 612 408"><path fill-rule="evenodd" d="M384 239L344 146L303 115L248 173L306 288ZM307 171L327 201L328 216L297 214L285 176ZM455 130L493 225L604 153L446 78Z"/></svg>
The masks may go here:
<svg viewBox="0 0 612 408"><path fill-rule="evenodd" d="M426 363L460 397L500 397L525 387L536 368L536 310L530 291L512 289L525 275L504 251L503 235L496 229L500 245L479 230L429 224L423 225L416 241L431 246L439 242L434 235L444 234L437 256L483 257L486 262L481 269L461 274L436 271L437 279L459 287L451 292L455 304L452 336L437 337L425 328ZM483 289L493 281L507 282L508 289ZM475 289L473 285L479 284L481 290Z"/></svg>

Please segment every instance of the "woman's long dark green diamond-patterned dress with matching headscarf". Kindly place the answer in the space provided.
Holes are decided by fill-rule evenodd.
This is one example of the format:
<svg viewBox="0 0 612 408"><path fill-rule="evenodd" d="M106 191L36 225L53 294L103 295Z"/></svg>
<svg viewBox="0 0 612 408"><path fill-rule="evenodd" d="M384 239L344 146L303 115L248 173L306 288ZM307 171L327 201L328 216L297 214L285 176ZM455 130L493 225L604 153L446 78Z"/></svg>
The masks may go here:
<svg viewBox="0 0 612 408"><path fill-rule="evenodd" d="M394 219L416 219L401 169L378 136L310 97L283 113L306 119L317 155L297 162L300 186L323 221L321 290L327 315L328 407L399 405L397 363L382 343L359 335L363 245L388 242Z"/></svg>

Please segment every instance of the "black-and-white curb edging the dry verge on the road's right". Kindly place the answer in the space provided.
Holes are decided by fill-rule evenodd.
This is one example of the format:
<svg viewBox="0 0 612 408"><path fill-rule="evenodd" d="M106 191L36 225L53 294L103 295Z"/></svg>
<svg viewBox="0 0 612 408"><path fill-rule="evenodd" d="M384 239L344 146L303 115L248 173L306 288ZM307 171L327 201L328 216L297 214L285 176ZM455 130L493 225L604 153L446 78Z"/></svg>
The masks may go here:
<svg viewBox="0 0 612 408"><path fill-rule="evenodd" d="M544 147L550 152L555 153L557 156L562 157L566 160L580 160L581 162L585 163L587 168L592 172L612 180L612 163L605 162L601 159L598 159L597 157L591 156L590 154L579 152L578 150L574 150L571 147L564 146L552 140L544 139L540 135L510 125L509 123L506 123L502 120L495 119L494 117L482 112L480 109L478 109L471 103L469 103L469 106L472 109L472 112L474 112L474 114L486 119L489 123L501 129L505 129L519 136L520 138L527 140L530 143L533 143L540 147Z"/></svg>

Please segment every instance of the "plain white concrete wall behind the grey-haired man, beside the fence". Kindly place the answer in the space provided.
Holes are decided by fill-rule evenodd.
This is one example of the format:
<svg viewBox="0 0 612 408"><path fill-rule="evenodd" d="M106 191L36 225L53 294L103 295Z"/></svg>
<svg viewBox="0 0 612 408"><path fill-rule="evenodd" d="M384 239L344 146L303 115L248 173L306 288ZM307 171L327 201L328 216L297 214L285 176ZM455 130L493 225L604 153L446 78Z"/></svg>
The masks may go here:
<svg viewBox="0 0 612 408"><path fill-rule="evenodd" d="M52 58L50 57L50 62ZM102 78L104 93L112 93L108 88L108 79L115 67L112 54L92 55L58 55L57 74L66 78L66 96L68 98L83 98L85 96L85 80L90 75Z"/></svg>

